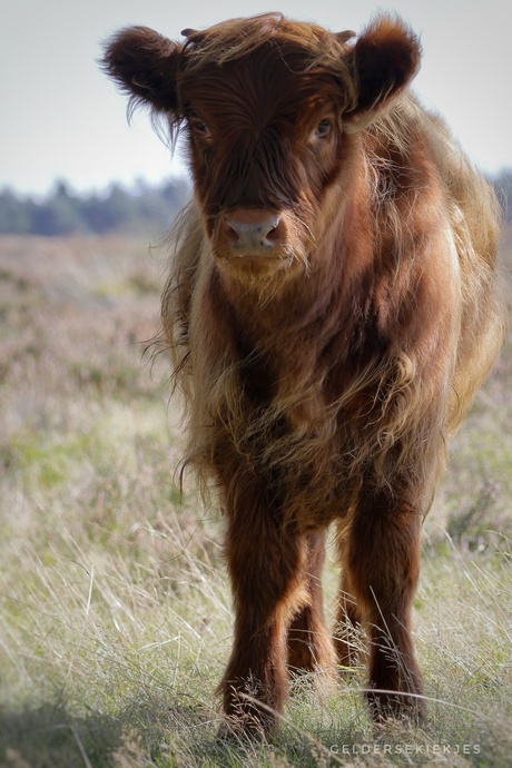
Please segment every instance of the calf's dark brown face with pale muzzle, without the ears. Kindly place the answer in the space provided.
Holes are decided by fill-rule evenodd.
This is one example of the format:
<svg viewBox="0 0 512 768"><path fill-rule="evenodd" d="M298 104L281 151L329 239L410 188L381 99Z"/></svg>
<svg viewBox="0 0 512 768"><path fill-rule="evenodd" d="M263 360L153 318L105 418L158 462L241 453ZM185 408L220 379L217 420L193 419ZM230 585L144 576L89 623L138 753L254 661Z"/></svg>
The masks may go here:
<svg viewBox="0 0 512 768"><path fill-rule="evenodd" d="M339 83L334 73L305 73L304 59L263 46L180 82L213 254L240 278L307 259L325 189L342 167Z"/></svg>

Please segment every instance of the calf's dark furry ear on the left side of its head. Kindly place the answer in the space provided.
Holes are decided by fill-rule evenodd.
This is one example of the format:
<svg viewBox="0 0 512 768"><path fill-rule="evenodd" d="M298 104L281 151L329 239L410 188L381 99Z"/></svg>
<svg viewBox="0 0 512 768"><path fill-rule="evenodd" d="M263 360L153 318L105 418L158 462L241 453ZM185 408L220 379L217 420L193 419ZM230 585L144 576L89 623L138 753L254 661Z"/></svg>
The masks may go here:
<svg viewBox="0 0 512 768"><path fill-rule="evenodd" d="M128 27L107 40L101 69L131 98L157 111L177 108L181 46L148 27Z"/></svg>

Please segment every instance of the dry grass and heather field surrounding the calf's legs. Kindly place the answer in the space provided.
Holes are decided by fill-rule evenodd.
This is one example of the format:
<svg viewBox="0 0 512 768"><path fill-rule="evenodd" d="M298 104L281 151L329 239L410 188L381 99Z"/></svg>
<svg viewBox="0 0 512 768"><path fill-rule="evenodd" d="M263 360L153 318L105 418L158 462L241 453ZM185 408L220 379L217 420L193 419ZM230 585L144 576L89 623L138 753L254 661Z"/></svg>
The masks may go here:
<svg viewBox="0 0 512 768"><path fill-rule="evenodd" d="M219 742L221 520L193 485L180 500L178 406L144 354L163 259L126 238L0 239L0 766L511 766L510 343L425 524L429 725L373 727L355 670L336 691L294 680L272 744Z"/></svg>

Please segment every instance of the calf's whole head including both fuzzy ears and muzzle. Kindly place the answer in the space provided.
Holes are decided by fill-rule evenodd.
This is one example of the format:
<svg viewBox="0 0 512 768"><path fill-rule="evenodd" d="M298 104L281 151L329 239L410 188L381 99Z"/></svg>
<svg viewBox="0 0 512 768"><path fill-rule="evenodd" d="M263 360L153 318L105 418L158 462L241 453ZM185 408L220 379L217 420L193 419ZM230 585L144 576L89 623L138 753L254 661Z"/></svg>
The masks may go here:
<svg viewBox="0 0 512 768"><path fill-rule="evenodd" d="M104 69L186 135L214 258L239 279L293 274L314 258L349 188L357 131L415 75L420 45L400 20L363 35L280 14L236 19L184 43L145 27L107 43Z"/></svg>

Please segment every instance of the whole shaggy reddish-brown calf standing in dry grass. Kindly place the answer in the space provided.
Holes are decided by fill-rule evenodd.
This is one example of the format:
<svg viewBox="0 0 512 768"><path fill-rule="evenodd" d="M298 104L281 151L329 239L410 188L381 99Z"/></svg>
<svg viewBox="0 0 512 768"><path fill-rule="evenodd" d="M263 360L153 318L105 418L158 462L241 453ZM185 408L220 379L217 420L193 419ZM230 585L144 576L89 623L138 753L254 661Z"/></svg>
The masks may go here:
<svg viewBox="0 0 512 768"><path fill-rule="evenodd" d="M422 718L411 637L422 520L500 346L494 197L407 91L416 37L279 14L184 43L121 30L106 71L183 131L195 199L163 297L187 462L218 489L235 638L229 728L268 730L293 670L354 662L374 717ZM337 525L334 637L321 572Z"/></svg>

